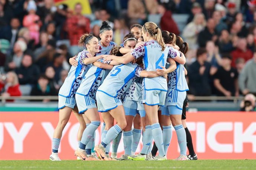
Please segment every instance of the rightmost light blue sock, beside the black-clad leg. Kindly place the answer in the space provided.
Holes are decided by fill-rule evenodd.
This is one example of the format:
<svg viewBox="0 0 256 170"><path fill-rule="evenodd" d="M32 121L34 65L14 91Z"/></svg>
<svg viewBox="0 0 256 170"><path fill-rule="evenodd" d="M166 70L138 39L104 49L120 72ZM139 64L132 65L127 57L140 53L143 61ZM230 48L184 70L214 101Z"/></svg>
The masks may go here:
<svg viewBox="0 0 256 170"><path fill-rule="evenodd" d="M180 154L186 156L187 154L187 137L186 137L186 131L183 127L183 125L176 125L174 126L174 129L177 134L178 138L178 144L180 147Z"/></svg>

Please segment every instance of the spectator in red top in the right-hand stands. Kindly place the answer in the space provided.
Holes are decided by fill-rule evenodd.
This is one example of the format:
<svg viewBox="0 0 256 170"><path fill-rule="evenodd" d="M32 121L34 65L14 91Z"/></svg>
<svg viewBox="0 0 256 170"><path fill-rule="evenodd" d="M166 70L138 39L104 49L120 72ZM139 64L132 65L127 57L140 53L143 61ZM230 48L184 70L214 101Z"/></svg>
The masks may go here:
<svg viewBox="0 0 256 170"><path fill-rule="evenodd" d="M236 67L236 60L238 58L243 58L245 61L247 61L253 57L252 51L247 48L246 38L239 38L237 48L231 52L231 55L232 67Z"/></svg>

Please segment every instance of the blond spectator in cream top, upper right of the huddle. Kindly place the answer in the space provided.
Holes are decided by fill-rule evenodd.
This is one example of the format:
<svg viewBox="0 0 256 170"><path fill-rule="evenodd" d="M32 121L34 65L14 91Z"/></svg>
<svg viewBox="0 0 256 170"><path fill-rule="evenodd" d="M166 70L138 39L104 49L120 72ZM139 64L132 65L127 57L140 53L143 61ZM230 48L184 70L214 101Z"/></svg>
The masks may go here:
<svg viewBox="0 0 256 170"><path fill-rule="evenodd" d="M183 37L184 41L189 44L190 50L196 50L198 48L198 34L204 30L206 26L206 20L204 14L196 14L193 21L184 28Z"/></svg>

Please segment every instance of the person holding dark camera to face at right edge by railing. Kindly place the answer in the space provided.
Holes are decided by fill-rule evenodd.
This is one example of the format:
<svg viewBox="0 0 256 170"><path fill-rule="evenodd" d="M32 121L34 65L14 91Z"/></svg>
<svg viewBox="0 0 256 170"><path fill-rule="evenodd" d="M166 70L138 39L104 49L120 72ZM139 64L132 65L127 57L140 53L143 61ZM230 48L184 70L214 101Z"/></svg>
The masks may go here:
<svg viewBox="0 0 256 170"><path fill-rule="evenodd" d="M246 111L246 112L255 111L255 103L256 103L255 101L256 101L255 95L251 93L245 95L243 101L240 103L240 111Z"/></svg>

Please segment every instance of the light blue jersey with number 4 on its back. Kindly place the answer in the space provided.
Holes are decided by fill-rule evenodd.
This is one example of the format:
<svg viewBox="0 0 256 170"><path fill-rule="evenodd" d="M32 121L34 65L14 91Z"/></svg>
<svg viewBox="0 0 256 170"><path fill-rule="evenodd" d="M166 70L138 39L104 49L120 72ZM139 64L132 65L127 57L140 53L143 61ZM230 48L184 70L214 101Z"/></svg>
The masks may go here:
<svg viewBox="0 0 256 170"><path fill-rule="evenodd" d="M162 51L161 45L157 41L151 40L145 42L144 46L135 48L131 54L134 58L143 57L144 68L147 71L155 71L158 68L161 69L161 66L165 67L167 57L175 58L177 51L169 47ZM167 92L167 81L163 76L144 78L144 89Z"/></svg>

